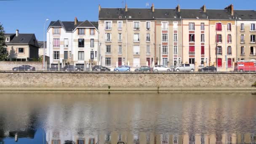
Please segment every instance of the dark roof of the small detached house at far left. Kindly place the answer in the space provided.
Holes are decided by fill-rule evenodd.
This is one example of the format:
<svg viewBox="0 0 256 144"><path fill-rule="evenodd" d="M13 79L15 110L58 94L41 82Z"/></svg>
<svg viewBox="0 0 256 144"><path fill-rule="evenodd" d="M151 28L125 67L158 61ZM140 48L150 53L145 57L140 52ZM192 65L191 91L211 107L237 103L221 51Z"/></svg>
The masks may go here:
<svg viewBox="0 0 256 144"><path fill-rule="evenodd" d="M4 34L4 36L10 36L10 42L6 42L6 45L27 44L27 45L34 45L38 47L35 34L19 34L17 37L16 37L16 34Z"/></svg>

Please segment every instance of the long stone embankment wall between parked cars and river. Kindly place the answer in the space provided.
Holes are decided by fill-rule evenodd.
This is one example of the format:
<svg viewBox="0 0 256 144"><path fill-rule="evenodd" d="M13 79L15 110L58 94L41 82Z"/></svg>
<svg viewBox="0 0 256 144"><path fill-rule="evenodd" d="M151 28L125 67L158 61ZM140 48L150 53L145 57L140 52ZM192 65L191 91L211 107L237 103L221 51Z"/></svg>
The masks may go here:
<svg viewBox="0 0 256 144"><path fill-rule="evenodd" d="M1 88L251 88L256 73L0 72Z"/></svg>

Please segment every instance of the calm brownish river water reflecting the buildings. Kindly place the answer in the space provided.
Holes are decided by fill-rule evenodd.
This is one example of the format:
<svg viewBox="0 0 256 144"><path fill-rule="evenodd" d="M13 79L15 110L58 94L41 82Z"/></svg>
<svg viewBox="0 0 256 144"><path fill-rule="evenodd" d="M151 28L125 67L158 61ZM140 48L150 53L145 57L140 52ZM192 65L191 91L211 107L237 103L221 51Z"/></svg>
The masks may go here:
<svg viewBox="0 0 256 144"><path fill-rule="evenodd" d="M2 91L0 102L0 144L256 143L252 93Z"/></svg>

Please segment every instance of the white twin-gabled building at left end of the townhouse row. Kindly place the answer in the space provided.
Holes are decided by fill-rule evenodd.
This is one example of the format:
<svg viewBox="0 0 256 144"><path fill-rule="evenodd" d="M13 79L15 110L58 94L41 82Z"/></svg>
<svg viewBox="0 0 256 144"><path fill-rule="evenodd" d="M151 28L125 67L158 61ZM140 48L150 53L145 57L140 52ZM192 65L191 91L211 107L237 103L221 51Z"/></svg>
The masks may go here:
<svg viewBox="0 0 256 144"><path fill-rule="evenodd" d="M83 65L98 63L98 22L51 21L47 29L47 56L50 64Z"/></svg>

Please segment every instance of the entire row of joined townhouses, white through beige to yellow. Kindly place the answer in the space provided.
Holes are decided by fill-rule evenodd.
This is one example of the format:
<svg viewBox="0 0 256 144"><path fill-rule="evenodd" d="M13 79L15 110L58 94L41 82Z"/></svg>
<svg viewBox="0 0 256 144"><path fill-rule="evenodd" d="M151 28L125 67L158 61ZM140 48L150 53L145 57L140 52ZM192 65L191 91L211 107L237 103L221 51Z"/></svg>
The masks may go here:
<svg viewBox="0 0 256 144"><path fill-rule="evenodd" d="M105 66L183 63L229 65L256 60L256 11L224 9L101 8L99 21L52 21L51 64Z"/></svg>

